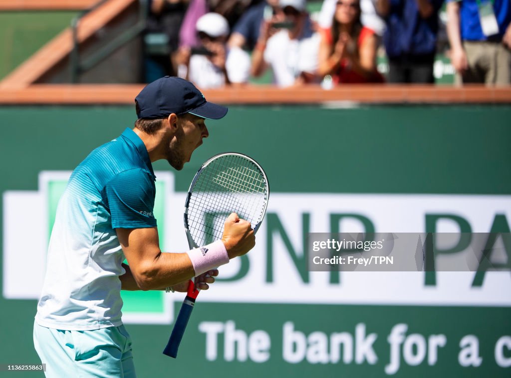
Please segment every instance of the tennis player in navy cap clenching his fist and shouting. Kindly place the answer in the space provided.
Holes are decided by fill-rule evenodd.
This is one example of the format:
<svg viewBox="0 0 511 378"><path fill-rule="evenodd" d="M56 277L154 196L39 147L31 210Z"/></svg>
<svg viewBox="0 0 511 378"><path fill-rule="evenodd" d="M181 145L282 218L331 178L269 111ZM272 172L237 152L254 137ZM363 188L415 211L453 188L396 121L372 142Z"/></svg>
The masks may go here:
<svg viewBox="0 0 511 378"><path fill-rule="evenodd" d="M147 85L135 106L135 128L90 153L57 208L34 323L35 349L48 377L134 377L120 291L186 291L194 276L205 290L216 267L255 244L250 223L233 213L221 240L162 253L151 163L166 159L182 169L209 135L204 120L224 117L227 108L173 77Z"/></svg>

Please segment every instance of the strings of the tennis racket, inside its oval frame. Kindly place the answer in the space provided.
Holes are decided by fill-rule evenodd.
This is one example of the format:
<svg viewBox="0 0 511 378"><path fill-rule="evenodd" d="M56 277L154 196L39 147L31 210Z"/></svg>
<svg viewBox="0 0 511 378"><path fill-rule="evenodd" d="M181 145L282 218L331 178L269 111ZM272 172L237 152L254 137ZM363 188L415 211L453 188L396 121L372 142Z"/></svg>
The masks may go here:
<svg viewBox="0 0 511 378"><path fill-rule="evenodd" d="M249 221L261 220L267 183L259 167L236 155L225 155L200 173L188 204L188 226L197 245L220 239L231 212Z"/></svg>

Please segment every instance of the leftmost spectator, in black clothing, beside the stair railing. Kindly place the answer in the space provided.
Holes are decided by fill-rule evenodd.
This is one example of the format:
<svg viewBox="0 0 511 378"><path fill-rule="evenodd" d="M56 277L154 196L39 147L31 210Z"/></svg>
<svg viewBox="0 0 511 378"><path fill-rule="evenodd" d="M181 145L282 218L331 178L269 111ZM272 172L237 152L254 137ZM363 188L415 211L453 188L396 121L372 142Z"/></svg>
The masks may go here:
<svg viewBox="0 0 511 378"><path fill-rule="evenodd" d="M188 0L151 0L144 34L144 81L175 76L171 56L177 51L179 28Z"/></svg>

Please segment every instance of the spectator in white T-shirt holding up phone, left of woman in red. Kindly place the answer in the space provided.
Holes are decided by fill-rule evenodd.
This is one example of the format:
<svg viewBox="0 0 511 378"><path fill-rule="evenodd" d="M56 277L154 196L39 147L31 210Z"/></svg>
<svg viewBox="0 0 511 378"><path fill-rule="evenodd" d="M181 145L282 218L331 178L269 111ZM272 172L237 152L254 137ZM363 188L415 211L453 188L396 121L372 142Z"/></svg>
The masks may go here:
<svg viewBox="0 0 511 378"><path fill-rule="evenodd" d="M252 75L268 66L279 87L316 81L319 35L313 33L305 0L280 0L281 14L269 15L252 53Z"/></svg>

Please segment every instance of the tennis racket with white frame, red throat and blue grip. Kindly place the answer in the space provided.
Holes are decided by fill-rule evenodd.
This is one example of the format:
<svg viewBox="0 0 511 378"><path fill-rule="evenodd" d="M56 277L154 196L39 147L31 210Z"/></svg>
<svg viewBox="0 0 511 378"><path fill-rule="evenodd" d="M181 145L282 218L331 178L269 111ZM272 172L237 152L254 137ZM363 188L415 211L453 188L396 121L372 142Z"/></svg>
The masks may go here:
<svg viewBox="0 0 511 378"><path fill-rule="evenodd" d="M195 174L184 204L184 231L190 249L221 239L225 220L233 212L250 222L257 233L269 194L263 168L248 156L224 153L207 160ZM198 294L190 280L164 355L176 358Z"/></svg>

